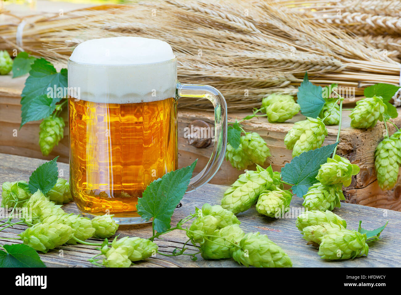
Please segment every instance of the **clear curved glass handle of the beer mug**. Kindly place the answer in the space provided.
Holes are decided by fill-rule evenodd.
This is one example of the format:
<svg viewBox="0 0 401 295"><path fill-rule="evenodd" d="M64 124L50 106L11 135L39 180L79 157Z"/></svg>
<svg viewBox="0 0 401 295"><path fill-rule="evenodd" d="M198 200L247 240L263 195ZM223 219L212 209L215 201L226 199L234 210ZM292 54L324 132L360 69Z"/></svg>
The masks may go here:
<svg viewBox="0 0 401 295"><path fill-rule="evenodd" d="M181 84L177 81L176 98L179 99L180 97L209 99L215 109L215 141L213 152L205 168L191 178L185 192L188 193L207 184L215 176L221 163L223 163L227 146L227 103L220 91L215 87Z"/></svg>

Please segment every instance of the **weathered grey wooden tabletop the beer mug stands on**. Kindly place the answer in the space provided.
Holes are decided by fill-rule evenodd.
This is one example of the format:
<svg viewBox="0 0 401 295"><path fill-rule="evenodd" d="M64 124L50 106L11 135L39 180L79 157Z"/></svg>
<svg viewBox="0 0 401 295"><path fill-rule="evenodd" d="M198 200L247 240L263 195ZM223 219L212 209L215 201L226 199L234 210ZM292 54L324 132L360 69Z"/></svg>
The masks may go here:
<svg viewBox="0 0 401 295"><path fill-rule="evenodd" d="M28 180L31 172L44 161L33 158L0 154L0 182ZM59 170L64 172L64 178L68 178L69 167L67 164L59 163ZM219 204L223 192L227 187L207 184L184 196L182 207L177 208L172 216L172 224L176 224L181 218L194 212L195 206L200 207L205 202ZM389 224L382 233L382 239L370 245L369 256L359 257L346 261L325 261L317 255L317 250L308 246L298 232L295 222L296 216L302 208L302 201L294 197L291 202L291 212L288 218L273 219L258 214L255 208L238 215L241 220L241 228L245 232L259 231L267 234L271 240L276 242L290 256L294 267L400 267L401 266L401 212L371 208L367 206L343 203L341 208L334 212L347 221L348 228L356 229L359 220L363 221L363 227L367 229L377 228L389 220ZM74 203L64 206L67 212L77 212ZM4 240L3 238L17 237L26 226L15 226L0 232L0 244L19 243L19 240ZM117 232L120 237L152 236L150 224L138 226L124 226ZM163 236L164 240L156 240L159 251L171 254L174 248L181 248L186 241L183 232L174 231ZM100 242L96 239L91 242ZM191 248L192 249L192 248ZM97 255L98 251L93 246L61 246L59 249L40 254L41 259L47 266L51 267L90 267L87 259ZM192 252L193 253L193 252ZM238 267L239 265L231 259L219 261L206 261L201 257L197 261L191 261L188 256L167 257L156 255L146 261L139 262L134 267Z"/></svg>

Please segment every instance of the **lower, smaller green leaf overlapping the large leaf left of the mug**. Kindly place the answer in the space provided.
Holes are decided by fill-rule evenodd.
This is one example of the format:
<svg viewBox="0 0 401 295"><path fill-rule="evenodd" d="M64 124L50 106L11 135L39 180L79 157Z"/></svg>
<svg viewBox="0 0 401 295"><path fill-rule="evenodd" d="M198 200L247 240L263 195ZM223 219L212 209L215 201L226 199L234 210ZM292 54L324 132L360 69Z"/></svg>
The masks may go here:
<svg viewBox="0 0 401 295"><path fill-rule="evenodd" d="M29 103L21 107L21 126L29 121L36 121L49 117L56 109L53 98L42 94L34 97Z"/></svg>

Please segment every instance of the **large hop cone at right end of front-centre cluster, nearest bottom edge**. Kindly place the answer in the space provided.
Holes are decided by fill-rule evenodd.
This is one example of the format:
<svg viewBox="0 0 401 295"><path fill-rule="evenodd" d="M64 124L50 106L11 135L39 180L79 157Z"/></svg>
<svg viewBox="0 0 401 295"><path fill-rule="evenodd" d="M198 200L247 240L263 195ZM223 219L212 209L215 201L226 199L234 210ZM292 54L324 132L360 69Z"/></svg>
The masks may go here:
<svg viewBox="0 0 401 295"><path fill-rule="evenodd" d="M231 256L239 264L254 267L292 267L290 257L259 232L248 233L231 249Z"/></svg>

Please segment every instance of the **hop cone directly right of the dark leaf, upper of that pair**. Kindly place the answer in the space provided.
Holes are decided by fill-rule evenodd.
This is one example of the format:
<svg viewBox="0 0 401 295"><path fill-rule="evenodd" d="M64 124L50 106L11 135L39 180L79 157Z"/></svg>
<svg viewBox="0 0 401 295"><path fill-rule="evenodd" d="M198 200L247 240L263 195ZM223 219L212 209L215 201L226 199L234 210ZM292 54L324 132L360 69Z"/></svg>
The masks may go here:
<svg viewBox="0 0 401 295"><path fill-rule="evenodd" d="M338 155L334 159L327 158L327 162L320 165L316 179L321 184L351 184L352 176L359 173L358 165L351 164L346 158Z"/></svg>

